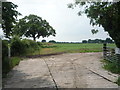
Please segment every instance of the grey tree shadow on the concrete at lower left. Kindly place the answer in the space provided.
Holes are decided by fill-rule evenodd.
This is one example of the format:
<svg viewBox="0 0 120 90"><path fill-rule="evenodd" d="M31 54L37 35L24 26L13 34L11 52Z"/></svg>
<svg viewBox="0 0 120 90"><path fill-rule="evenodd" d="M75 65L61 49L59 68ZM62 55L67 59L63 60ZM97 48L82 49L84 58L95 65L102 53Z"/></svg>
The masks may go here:
<svg viewBox="0 0 120 90"><path fill-rule="evenodd" d="M18 70L10 71L3 81L3 88L55 88L50 75L30 76Z"/></svg>

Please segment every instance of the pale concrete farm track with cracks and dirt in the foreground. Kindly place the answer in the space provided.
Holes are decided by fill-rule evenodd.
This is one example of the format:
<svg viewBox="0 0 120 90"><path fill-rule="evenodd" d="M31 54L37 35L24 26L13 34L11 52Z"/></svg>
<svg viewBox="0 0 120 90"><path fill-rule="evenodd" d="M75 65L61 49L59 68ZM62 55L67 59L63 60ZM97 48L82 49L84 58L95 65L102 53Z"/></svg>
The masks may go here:
<svg viewBox="0 0 120 90"><path fill-rule="evenodd" d="M118 88L117 75L102 68L102 53L29 58L5 79L5 88Z"/></svg>

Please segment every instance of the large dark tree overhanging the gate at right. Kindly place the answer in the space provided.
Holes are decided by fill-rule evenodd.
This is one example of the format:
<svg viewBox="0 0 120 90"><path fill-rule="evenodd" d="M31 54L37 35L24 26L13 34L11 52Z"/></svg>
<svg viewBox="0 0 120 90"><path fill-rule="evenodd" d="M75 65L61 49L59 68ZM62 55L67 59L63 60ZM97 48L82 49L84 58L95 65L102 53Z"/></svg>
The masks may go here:
<svg viewBox="0 0 120 90"><path fill-rule="evenodd" d="M115 41L116 46L120 48L120 1L81 2L81 0L76 0L74 4L69 4L68 7L74 8L77 5L83 6L78 14L85 13L90 18L90 24L102 26Z"/></svg>

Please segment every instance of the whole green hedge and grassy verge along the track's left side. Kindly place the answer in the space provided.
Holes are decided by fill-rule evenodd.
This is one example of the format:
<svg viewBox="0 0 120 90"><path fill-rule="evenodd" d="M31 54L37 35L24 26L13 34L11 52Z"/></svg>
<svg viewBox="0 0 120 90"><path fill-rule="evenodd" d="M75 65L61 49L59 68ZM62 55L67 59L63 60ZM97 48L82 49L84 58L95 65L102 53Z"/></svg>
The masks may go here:
<svg viewBox="0 0 120 90"><path fill-rule="evenodd" d="M8 58L8 44L11 47L11 58ZM39 50L41 43L37 43L28 39L19 39L13 37L10 41L2 40L2 74L3 77L16 65L19 64L20 58L16 56L24 56Z"/></svg>

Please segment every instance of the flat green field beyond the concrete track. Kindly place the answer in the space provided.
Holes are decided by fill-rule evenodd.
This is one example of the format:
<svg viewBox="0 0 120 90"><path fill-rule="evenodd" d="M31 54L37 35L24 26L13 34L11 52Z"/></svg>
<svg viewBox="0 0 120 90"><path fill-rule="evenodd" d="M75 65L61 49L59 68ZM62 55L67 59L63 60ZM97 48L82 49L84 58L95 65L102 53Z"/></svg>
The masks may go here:
<svg viewBox="0 0 120 90"><path fill-rule="evenodd" d="M108 44L109 47L115 47L115 44ZM44 45L36 54L53 54L53 53L85 53L85 52L102 52L103 44L97 43L61 43L61 44L48 44Z"/></svg>

